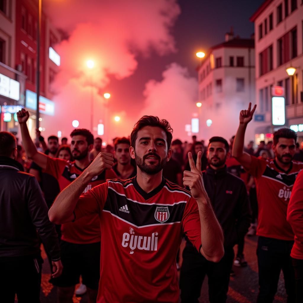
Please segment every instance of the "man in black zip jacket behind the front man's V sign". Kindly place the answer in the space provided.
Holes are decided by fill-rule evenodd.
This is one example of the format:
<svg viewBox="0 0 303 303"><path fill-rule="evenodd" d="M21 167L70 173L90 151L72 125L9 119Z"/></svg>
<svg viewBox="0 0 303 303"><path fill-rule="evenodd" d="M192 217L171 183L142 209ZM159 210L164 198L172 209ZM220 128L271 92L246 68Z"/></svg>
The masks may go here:
<svg viewBox="0 0 303 303"><path fill-rule="evenodd" d="M224 256L218 263L207 261L187 241L180 272L182 302L198 302L205 275L208 276L209 301L226 302L229 277L234 260L233 246L244 238L251 222L244 182L227 171L228 142L212 137L207 149L208 168L203 181L215 215L224 233Z"/></svg>

